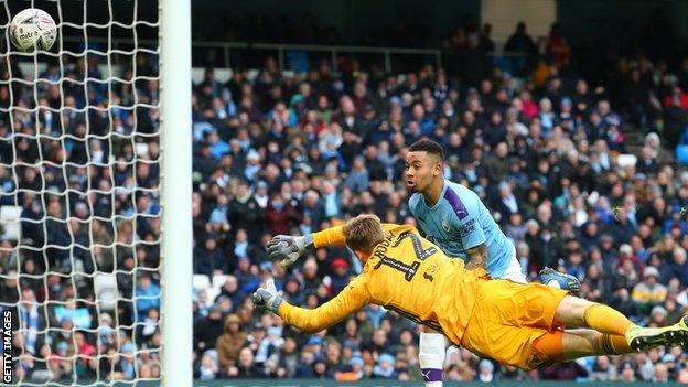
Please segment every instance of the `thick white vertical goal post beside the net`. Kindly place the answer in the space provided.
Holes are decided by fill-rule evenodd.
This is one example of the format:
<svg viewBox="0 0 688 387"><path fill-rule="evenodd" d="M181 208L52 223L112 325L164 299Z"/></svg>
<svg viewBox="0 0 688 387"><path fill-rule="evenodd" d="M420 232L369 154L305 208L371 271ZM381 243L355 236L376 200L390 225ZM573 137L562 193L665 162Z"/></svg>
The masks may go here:
<svg viewBox="0 0 688 387"><path fill-rule="evenodd" d="M160 0L162 385L192 385L191 0Z"/></svg>

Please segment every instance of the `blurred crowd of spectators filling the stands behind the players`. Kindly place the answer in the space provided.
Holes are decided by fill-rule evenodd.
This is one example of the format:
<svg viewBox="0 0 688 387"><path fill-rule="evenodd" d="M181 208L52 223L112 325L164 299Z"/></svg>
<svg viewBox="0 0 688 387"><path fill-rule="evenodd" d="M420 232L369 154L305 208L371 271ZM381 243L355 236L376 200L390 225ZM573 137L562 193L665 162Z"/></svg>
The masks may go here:
<svg viewBox="0 0 688 387"><path fill-rule="evenodd" d="M103 78L86 61L65 57L66 75ZM432 66L287 75L270 58L226 83L208 68L191 103L195 247L174 258L193 259L195 376L420 378L418 326L391 311L368 307L308 336L249 295L270 276L308 308L343 289L359 270L346 250L318 249L283 272L265 243L361 213L413 224L404 158L423 137L445 148L445 176L486 203L530 280L556 267L638 324L676 322L688 308L688 171L662 143L675 147L688 126L688 60L625 61L594 85L545 64L524 77L491 68L475 87ZM153 73L138 63L138 75ZM22 218L21 239L0 241L0 302L17 309L19 377L160 374L158 85L120 77L110 101L100 83L0 85L0 203ZM630 133L644 141L626 143ZM681 348L657 348L525 373L451 347L445 375L688 381L687 366Z"/></svg>

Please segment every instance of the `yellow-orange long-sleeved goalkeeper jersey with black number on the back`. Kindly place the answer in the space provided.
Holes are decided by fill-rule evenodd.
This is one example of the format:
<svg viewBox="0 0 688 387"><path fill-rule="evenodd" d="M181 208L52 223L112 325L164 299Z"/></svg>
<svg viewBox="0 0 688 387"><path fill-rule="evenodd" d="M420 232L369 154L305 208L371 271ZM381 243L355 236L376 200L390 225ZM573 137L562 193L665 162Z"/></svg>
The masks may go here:
<svg viewBox="0 0 688 387"><path fill-rule="evenodd" d="M448 258L409 225L384 224L385 240L376 246L363 271L342 292L309 310L283 302L278 314L304 332L319 332L368 303L394 310L461 342L473 310L483 269L466 271L463 260ZM344 243L343 228L314 236L315 247Z"/></svg>

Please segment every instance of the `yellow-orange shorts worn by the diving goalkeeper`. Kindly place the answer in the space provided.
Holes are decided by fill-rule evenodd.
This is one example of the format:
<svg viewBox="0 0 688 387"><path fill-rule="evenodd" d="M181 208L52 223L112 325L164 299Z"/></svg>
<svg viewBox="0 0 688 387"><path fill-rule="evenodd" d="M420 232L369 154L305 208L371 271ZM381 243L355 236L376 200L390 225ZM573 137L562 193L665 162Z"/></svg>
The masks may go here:
<svg viewBox="0 0 688 387"><path fill-rule="evenodd" d="M540 283L481 281L473 316L461 345L471 352L523 369L551 364L535 343L547 334L561 335L555 314L567 291Z"/></svg>

